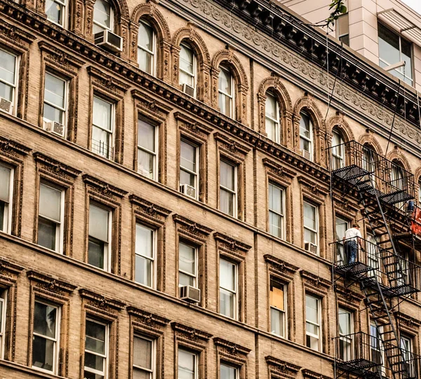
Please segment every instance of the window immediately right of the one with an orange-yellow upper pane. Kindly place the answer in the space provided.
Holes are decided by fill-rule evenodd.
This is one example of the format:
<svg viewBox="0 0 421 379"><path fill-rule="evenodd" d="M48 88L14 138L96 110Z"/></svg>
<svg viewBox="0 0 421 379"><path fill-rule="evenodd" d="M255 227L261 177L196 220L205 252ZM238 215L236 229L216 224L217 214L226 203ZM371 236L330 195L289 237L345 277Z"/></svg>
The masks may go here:
<svg viewBox="0 0 421 379"><path fill-rule="evenodd" d="M321 301L315 296L305 295L305 345L312 350L321 350Z"/></svg>

